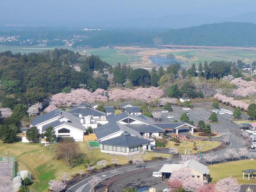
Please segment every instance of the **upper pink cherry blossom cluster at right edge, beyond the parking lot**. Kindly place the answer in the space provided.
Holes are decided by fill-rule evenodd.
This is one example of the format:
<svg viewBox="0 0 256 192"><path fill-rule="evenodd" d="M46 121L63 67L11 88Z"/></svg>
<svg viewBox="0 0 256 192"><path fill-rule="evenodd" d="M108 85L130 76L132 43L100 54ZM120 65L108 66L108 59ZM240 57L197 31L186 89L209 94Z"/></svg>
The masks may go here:
<svg viewBox="0 0 256 192"><path fill-rule="evenodd" d="M246 97L256 93L256 82L254 81L246 82L242 80L242 77L239 77L233 79L231 82L237 86L237 89L233 91L235 96Z"/></svg>

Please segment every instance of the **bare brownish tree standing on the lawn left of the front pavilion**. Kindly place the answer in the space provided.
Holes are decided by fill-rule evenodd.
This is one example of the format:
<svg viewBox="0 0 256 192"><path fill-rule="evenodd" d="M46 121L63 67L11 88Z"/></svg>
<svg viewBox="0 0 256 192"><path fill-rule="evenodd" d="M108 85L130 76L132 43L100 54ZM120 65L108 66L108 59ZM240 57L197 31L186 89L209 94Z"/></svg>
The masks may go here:
<svg viewBox="0 0 256 192"><path fill-rule="evenodd" d="M72 161L77 157L80 152L79 144L74 141L64 140L58 143L58 157L63 158L68 168L72 168Z"/></svg>

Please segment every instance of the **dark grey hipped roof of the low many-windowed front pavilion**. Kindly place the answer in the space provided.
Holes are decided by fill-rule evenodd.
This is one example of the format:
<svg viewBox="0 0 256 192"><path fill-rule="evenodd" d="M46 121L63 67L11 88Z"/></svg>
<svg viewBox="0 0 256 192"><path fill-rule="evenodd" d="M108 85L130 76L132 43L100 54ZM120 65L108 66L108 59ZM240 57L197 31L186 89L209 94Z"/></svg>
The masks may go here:
<svg viewBox="0 0 256 192"><path fill-rule="evenodd" d="M107 144L107 145L115 145L121 147L131 147L140 144L149 144L151 141L147 139L143 139L140 137L135 137L132 135L120 135L115 138L107 139L105 141L99 142L100 144Z"/></svg>

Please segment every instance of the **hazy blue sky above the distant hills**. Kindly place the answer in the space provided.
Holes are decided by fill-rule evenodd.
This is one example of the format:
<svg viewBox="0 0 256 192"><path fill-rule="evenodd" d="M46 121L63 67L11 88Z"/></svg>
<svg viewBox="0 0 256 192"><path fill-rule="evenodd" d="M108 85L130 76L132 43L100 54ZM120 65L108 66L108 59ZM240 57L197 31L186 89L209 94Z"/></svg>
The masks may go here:
<svg viewBox="0 0 256 192"><path fill-rule="evenodd" d="M97 21L256 11L256 0L1 0L0 24L83 25Z"/></svg>

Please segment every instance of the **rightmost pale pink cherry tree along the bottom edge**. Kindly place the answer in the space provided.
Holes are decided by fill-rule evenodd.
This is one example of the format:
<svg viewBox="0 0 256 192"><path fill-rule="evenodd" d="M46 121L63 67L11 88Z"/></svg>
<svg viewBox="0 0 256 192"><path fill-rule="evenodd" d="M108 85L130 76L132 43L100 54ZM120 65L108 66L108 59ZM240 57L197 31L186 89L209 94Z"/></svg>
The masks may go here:
<svg viewBox="0 0 256 192"><path fill-rule="evenodd" d="M228 177L217 181L217 192L240 192L241 186L238 184L236 178Z"/></svg>

